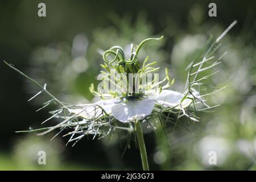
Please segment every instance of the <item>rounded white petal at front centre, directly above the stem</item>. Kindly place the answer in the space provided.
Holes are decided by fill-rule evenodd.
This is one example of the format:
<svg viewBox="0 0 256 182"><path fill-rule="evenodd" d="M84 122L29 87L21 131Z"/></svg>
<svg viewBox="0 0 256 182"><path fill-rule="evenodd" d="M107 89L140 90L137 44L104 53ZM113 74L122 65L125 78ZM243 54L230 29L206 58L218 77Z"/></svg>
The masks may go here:
<svg viewBox="0 0 256 182"><path fill-rule="evenodd" d="M128 101L112 107L112 114L121 122L130 122L150 115L155 105L154 100Z"/></svg>

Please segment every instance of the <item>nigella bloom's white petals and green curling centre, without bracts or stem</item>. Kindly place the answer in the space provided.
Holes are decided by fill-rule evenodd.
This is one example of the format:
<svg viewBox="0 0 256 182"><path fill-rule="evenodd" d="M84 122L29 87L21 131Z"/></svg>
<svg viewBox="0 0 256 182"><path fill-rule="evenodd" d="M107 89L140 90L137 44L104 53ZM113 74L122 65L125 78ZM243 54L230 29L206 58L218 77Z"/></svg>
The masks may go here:
<svg viewBox="0 0 256 182"><path fill-rule="evenodd" d="M108 51L105 51L103 54L103 59L105 60L105 64L101 65L102 68L106 69L106 72L102 71L101 76L102 80L108 81L105 83L105 86L108 88L109 82L114 82L115 85L119 85L120 87L125 87L125 92L120 90L109 90L107 89L107 93L102 93L101 89L98 88L98 92L94 90L94 87L91 87L91 92L95 96L100 96L102 98L101 101L96 102L91 105L81 106L80 109L69 109L71 113L75 113L84 119L92 119L97 118L101 115L102 111L110 117L114 117L119 122L135 122L143 120L148 115L159 113L161 109L170 110L183 110L192 104L193 98L201 100L198 96L199 92L193 92L192 94L181 94L179 92L175 92L173 90L167 89L172 85L174 80L171 80L168 76L168 70L166 69L166 77L162 81L150 81L146 85L142 84L142 77L151 74L152 72L156 72L159 68L154 68L152 65L156 64L156 62L146 64L148 61L148 57L144 60L144 63L141 67L137 56L139 50L143 46L144 43L150 40L160 40L162 39L146 39L143 40L141 44L137 47L136 51L134 51L133 44L131 44L131 53L130 59L127 60L126 56L127 50L124 52L123 49L119 46L114 46L110 48ZM109 55L112 55L114 58L110 60L108 58ZM127 80L123 82L120 77L115 77L111 75L111 69L115 69L115 72L119 74L123 74L125 78L129 77L131 74L133 75L131 78L134 83L138 81L139 83L130 85ZM130 81L130 80L129 80ZM160 86L163 82L167 81L167 84L164 86ZM138 87L135 89L134 87ZM128 89L127 89L128 88ZM130 90L129 90L130 89ZM135 90L139 90L139 92L135 93ZM130 92L131 91L131 92ZM184 113L185 114L185 113ZM185 114L189 116L188 114ZM196 118L189 117L193 121L197 121Z"/></svg>

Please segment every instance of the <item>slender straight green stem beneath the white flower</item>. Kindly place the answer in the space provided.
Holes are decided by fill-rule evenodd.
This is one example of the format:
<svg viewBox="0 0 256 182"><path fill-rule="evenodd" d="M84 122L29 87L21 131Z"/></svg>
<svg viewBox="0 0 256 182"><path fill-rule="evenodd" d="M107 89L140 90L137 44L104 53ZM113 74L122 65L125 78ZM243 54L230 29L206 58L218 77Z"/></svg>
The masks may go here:
<svg viewBox="0 0 256 182"><path fill-rule="evenodd" d="M146 151L146 146L143 138L143 131L142 131L140 121L135 121L135 131L137 133L137 139L139 143L139 152L141 153L141 162L142 162L143 170L149 171L148 161L147 161L147 151Z"/></svg>

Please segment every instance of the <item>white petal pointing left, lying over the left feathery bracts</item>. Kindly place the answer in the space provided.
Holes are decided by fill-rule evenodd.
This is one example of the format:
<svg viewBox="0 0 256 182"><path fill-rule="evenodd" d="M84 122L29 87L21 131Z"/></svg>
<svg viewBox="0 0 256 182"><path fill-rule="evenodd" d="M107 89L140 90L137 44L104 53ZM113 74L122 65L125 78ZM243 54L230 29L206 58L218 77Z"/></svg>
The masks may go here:
<svg viewBox="0 0 256 182"><path fill-rule="evenodd" d="M80 117L85 119L92 119L100 116L102 114L102 109L104 109L106 113L110 114L111 107L119 102L120 101L117 99L101 100L94 104L85 105L82 109L69 109L69 112L79 114Z"/></svg>

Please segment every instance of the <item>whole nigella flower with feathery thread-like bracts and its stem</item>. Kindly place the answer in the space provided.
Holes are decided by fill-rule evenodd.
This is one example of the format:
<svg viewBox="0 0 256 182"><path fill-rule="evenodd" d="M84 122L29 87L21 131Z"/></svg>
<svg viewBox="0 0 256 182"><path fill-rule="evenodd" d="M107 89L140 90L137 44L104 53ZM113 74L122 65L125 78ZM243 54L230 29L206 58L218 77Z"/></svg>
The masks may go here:
<svg viewBox="0 0 256 182"><path fill-rule="evenodd" d="M149 167L141 123L147 122L150 124L147 127L151 127L154 125L154 122L160 121L162 123L162 119L168 122L181 117L187 117L192 121L199 121L199 118L196 116L197 111L218 106L208 106L205 103L205 98L223 88L213 90L212 92L205 92L206 89L203 83L204 80L213 76L218 71L210 75L204 74L201 77L200 73L209 71L221 63L220 60L222 56L215 59L213 53L220 47L218 44L220 40L236 23L237 22L234 21L216 40L212 41L212 39L209 39L205 47L197 54L191 64L188 65L186 68L188 74L184 93L170 89L171 85L174 83L174 79L168 76L168 69L166 69L165 72L166 76L161 81L158 81L158 77L155 77L155 75L154 80L150 80L149 82L143 80L145 75L156 73L160 68L154 67L156 61L147 64L148 57L141 63L138 59L139 51L145 43L152 40L161 40L163 37L159 39L145 39L135 48L132 45L130 55L127 53L127 50L123 51L123 48L119 46L111 47L105 51L102 55L105 63L101 64L101 67L104 68L104 71L101 71L102 84L97 90L94 90L93 85L90 86L90 92L92 92L94 96L101 98L100 101L94 104L65 105L48 92L46 84L44 86L40 85L32 78L24 75L24 73L20 72L13 65L5 62L9 67L15 69L15 71L19 72L42 89L32 98L35 98L43 92L51 97L51 100L45 102L40 109L44 109L52 102L60 106L59 109L51 111L52 116L44 121L47 122L52 118L59 118L62 121L57 123L57 125L19 132L43 131L38 135L44 135L55 129L59 129L60 131L55 135L56 137L64 131L64 129L73 129L64 135L70 136L68 143L73 141L76 143L86 135L93 135L94 139L96 136L98 136L98 138L106 136L111 138L112 134L117 132L118 134L122 132L127 132L129 135L134 134L138 140L143 169L148 170ZM129 57L127 57L127 55L129 55ZM213 61L214 59L215 61ZM207 66L205 66L206 63L208 64ZM118 73L118 76L114 78L111 74L113 69ZM131 82L127 82L129 78L131 78ZM118 89L109 90L109 83ZM203 89L204 93L201 93L200 89ZM104 92L106 90L107 92ZM30 100L32 100L32 98Z"/></svg>

